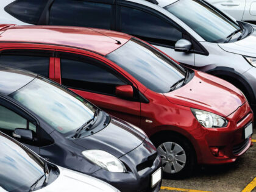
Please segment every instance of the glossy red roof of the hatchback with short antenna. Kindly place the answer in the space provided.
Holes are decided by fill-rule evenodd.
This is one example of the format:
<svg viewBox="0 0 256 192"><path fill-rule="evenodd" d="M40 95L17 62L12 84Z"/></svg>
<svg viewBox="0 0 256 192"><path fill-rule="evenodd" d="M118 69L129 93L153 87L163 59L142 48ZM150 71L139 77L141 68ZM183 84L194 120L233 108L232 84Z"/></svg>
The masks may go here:
<svg viewBox="0 0 256 192"><path fill-rule="evenodd" d="M0 25L0 43L54 44L87 49L101 55L115 51L130 38L130 35L112 30L85 27Z"/></svg>

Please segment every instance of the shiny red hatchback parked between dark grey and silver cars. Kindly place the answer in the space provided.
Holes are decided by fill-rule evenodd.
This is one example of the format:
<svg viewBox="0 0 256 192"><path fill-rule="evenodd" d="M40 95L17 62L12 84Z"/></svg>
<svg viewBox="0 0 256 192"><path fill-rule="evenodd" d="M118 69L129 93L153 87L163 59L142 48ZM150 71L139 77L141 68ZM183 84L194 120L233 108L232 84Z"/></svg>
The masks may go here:
<svg viewBox="0 0 256 192"><path fill-rule="evenodd" d="M83 27L2 25L0 51L0 64L49 77L141 127L171 177L192 172L196 163L235 162L251 146L253 113L238 88L179 65L138 38Z"/></svg>

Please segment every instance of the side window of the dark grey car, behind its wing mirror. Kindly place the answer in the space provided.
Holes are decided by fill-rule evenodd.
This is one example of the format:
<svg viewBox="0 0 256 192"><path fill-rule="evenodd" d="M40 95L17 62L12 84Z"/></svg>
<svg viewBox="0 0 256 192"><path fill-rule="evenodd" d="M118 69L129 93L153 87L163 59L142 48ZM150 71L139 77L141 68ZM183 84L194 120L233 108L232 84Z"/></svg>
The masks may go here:
<svg viewBox="0 0 256 192"><path fill-rule="evenodd" d="M29 129L33 133L33 141L13 137L16 128ZM37 121L21 108L12 104L7 99L0 98L0 131L20 141L37 154L40 153L40 126Z"/></svg>

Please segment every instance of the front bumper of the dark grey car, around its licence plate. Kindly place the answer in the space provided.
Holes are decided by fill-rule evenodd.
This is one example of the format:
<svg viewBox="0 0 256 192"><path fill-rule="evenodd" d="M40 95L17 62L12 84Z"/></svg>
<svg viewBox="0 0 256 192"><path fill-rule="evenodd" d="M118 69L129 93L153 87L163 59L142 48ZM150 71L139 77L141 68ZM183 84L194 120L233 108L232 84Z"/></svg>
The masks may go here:
<svg viewBox="0 0 256 192"><path fill-rule="evenodd" d="M119 160L126 164L127 172L118 173L99 169L91 176L110 183L110 185L122 192L155 192L160 190L162 180L155 187L151 187L151 175L162 167L161 159L157 155L155 148L146 146L144 142L138 148L119 158Z"/></svg>

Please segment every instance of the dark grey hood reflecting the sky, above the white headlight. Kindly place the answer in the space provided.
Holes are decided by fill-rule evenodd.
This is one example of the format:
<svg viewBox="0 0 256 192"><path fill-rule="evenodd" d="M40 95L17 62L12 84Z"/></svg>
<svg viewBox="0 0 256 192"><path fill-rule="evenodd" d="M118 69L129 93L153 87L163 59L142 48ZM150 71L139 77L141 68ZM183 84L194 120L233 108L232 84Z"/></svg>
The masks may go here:
<svg viewBox="0 0 256 192"><path fill-rule="evenodd" d="M85 149L99 149L119 158L143 143L145 135L131 127L126 121L111 116L107 127L88 137L73 140Z"/></svg>

